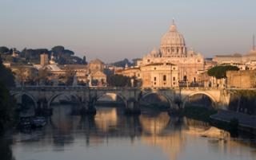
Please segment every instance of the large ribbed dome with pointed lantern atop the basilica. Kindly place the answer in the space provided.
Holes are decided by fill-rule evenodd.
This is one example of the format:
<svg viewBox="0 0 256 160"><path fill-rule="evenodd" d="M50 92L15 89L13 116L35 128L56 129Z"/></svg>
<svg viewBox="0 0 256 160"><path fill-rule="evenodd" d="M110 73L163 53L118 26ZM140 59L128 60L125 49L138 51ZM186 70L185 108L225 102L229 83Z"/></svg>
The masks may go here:
<svg viewBox="0 0 256 160"><path fill-rule="evenodd" d="M181 33L178 33L176 25L170 25L169 31L162 37L161 41L162 57L172 57L177 54L186 53L186 43Z"/></svg>

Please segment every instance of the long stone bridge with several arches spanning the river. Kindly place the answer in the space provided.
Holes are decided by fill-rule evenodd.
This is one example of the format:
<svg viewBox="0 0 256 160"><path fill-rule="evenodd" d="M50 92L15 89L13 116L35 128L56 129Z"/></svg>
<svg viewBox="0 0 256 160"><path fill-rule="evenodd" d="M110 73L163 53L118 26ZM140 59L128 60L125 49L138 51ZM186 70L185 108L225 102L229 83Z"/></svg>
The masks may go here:
<svg viewBox="0 0 256 160"><path fill-rule="evenodd" d="M94 108L102 96L113 93L122 99L126 109L138 109L140 100L151 94L164 96L170 108L185 107L186 102L194 95L205 95L210 98L214 107L225 108L229 104L230 94L226 90L213 88L89 88L89 87L54 87L28 86L12 88L11 95L18 99L23 95L30 97L36 108L50 108L58 96L72 96L84 108Z"/></svg>

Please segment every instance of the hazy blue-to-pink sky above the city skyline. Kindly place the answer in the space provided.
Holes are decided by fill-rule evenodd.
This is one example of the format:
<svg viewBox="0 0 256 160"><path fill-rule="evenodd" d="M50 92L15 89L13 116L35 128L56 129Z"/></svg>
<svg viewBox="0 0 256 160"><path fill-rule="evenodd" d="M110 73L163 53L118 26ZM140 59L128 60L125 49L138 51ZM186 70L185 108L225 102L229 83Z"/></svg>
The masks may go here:
<svg viewBox="0 0 256 160"><path fill-rule="evenodd" d="M172 18L188 48L205 57L246 53L255 0L0 0L0 46L63 45L87 59L142 57L159 47Z"/></svg>

